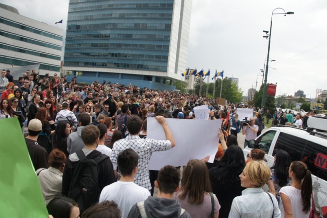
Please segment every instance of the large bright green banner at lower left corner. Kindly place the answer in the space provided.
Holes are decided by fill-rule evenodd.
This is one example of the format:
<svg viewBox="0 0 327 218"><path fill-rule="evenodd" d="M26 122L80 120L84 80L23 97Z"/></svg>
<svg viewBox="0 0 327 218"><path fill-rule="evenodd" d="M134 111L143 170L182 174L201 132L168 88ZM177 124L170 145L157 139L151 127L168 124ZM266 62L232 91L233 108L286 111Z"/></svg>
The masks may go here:
<svg viewBox="0 0 327 218"><path fill-rule="evenodd" d="M17 118L0 119L0 217L48 217Z"/></svg>

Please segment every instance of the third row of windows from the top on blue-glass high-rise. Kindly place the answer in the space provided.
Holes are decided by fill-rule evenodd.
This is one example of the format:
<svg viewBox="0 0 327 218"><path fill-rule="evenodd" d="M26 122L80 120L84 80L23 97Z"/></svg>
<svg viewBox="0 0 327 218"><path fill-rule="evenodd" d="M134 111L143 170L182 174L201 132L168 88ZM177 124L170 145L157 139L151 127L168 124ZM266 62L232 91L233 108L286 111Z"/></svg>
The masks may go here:
<svg viewBox="0 0 327 218"><path fill-rule="evenodd" d="M69 24L68 31L74 30L100 30L100 29L158 29L158 30L170 30L171 24L147 24L147 23L110 23L110 24L85 24L76 25Z"/></svg>

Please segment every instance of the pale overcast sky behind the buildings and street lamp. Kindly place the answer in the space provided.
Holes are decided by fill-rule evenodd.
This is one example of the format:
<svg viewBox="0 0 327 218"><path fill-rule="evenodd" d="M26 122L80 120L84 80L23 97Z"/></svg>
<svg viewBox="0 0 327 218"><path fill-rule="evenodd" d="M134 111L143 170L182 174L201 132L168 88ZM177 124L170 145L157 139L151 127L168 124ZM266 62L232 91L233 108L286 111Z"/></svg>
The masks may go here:
<svg viewBox="0 0 327 218"><path fill-rule="evenodd" d="M66 29L69 0L1 0L23 16ZM327 90L326 0L193 0L186 67L224 70L239 78L244 95L260 88L267 58L271 14L282 8L294 15L273 15L268 83L276 95L304 91L315 98ZM282 9L274 13L283 13ZM63 25L55 22L63 19ZM210 79L211 81L211 79Z"/></svg>

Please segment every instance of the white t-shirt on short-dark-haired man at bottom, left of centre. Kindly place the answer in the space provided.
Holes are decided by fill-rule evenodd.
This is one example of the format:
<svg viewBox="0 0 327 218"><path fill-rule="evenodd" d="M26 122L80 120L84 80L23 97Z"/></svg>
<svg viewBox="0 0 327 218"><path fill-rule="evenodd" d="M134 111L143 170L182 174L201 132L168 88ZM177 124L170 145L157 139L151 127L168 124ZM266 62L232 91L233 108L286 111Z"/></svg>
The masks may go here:
<svg viewBox="0 0 327 218"><path fill-rule="evenodd" d="M122 217L127 218L136 202L144 201L148 196L150 196L149 190L134 182L117 181L102 189L99 202L114 200L122 211Z"/></svg>

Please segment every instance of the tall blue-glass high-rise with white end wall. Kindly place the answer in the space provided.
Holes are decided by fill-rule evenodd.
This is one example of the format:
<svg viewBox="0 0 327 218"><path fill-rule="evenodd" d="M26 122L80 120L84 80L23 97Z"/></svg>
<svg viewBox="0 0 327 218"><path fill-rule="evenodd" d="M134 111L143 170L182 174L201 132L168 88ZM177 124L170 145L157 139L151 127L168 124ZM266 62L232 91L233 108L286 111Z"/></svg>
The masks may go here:
<svg viewBox="0 0 327 218"><path fill-rule="evenodd" d="M78 81L172 89L186 68L191 5L70 0L63 69Z"/></svg>

